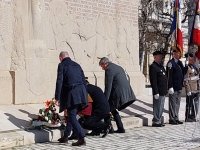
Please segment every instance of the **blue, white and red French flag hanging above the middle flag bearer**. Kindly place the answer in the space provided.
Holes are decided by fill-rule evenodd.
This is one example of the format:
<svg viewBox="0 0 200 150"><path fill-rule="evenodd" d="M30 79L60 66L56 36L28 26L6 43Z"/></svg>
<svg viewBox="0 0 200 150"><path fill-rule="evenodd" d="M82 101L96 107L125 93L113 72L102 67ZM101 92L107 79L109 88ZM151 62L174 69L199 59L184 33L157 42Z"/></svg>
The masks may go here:
<svg viewBox="0 0 200 150"><path fill-rule="evenodd" d="M180 12L179 0L174 1L174 17L173 17L171 31L172 31L171 46L173 49L179 51L181 53L181 56L183 56L183 36L182 36L181 12Z"/></svg>

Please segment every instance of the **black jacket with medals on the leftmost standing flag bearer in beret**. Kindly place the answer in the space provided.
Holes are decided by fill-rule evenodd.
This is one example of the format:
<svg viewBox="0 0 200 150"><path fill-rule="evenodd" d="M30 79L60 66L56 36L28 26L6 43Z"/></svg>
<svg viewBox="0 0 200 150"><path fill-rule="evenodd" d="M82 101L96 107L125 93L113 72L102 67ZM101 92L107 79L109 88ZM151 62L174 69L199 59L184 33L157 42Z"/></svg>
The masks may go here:
<svg viewBox="0 0 200 150"><path fill-rule="evenodd" d="M149 76L153 95L165 96L167 94L167 77L164 67L154 61L149 67Z"/></svg>

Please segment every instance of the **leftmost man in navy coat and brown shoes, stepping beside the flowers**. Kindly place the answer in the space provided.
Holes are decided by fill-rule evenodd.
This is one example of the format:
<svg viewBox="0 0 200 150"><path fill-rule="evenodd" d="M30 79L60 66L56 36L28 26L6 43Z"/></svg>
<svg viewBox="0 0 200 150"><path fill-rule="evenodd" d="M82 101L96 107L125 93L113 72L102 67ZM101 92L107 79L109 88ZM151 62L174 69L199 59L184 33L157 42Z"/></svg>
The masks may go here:
<svg viewBox="0 0 200 150"><path fill-rule="evenodd" d="M66 51L59 55L55 99L60 104L60 112L67 109L68 123L64 136L58 141L67 143L72 128L78 135L78 141L72 146L86 145L85 133L76 119L77 110L87 106L86 82L83 70L79 64L72 61Z"/></svg>

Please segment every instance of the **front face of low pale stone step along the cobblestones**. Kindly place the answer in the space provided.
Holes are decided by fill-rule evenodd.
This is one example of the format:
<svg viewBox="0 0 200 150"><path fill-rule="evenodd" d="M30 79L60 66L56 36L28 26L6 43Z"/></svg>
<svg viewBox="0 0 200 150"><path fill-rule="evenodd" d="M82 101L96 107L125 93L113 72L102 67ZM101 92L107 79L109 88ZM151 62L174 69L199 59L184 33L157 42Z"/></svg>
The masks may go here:
<svg viewBox="0 0 200 150"><path fill-rule="evenodd" d="M142 126L142 120L137 117L124 117L122 118L125 129L131 129ZM116 123L112 121L113 128L116 130ZM48 141L57 141L63 135L62 130L20 130L20 131L8 131L1 134L0 149L10 148L15 146L28 145L33 143L42 143Z"/></svg>

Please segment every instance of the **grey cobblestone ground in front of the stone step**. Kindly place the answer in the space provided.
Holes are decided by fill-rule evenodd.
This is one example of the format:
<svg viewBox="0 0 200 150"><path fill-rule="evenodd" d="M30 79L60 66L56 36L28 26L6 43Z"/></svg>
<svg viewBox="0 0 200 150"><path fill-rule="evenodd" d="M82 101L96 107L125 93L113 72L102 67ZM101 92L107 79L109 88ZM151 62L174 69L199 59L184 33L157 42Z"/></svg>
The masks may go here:
<svg viewBox="0 0 200 150"><path fill-rule="evenodd" d="M9 150L186 150L200 147L200 124L166 125L162 128L141 127L124 134L109 134L106 138L87 137L86 146L72 147L57 141L15 147Z"/></svg>

